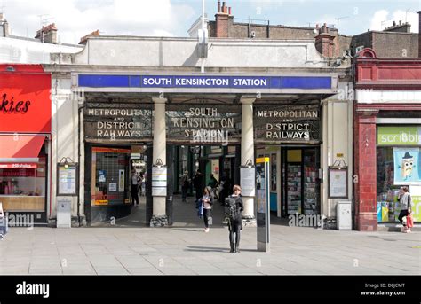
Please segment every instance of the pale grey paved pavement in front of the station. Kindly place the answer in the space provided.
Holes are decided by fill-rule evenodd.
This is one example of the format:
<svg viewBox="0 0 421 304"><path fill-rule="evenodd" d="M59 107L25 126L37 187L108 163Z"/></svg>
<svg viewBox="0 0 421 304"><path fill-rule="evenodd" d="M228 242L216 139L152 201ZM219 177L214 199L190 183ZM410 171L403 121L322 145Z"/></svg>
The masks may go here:
<svg viewBox="0 0 421 304"><path fill-rule="evenodd" d="M273 218L270 252L256 228L229 253L223 209L209 233L193 199L174 202L174 225L148 228L144 200L109 227L10 228L0 241L0 275L420 275L421 232L359 232L289 227Z"/></svg>

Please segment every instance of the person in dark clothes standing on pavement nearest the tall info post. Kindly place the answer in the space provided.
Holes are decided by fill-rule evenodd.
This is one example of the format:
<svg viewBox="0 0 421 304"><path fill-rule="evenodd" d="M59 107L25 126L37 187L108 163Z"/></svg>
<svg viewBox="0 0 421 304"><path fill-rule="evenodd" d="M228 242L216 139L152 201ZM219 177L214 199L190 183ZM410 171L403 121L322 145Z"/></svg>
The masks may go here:
<svg viewBox="0 0 421 304"><path fill-rule="evenodd" d="M234 185L233 194L226 198L226 209L228 215L229 245L230 253L240 253L240 233L242 230L242 188ZM235 238L234 238L235 233ZM234 243L235 239L235 243Z"/></svg>

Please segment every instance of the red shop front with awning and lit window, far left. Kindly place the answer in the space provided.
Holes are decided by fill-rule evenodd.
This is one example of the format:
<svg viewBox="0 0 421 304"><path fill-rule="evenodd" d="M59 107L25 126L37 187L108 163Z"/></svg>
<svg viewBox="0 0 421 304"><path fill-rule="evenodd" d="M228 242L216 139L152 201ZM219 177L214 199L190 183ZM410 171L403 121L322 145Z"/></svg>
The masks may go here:
<svg viewBox="0 0 421 304"><path fill-rule="evenodd" d="M45 224L50 198L51 75L0 65L0 202L9 225Z"/></svg>

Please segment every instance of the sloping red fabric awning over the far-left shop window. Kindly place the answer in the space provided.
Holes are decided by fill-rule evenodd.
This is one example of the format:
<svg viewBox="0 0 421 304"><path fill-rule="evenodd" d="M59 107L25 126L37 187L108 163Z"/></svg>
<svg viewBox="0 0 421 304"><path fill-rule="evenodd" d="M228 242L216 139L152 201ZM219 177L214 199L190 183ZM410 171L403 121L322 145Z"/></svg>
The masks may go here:
<svg viewBox="0 0 421 304"><path fill-rule="evenodd" d="M0 136L0 163L37 162L44 141L44 136Z"/></svg>

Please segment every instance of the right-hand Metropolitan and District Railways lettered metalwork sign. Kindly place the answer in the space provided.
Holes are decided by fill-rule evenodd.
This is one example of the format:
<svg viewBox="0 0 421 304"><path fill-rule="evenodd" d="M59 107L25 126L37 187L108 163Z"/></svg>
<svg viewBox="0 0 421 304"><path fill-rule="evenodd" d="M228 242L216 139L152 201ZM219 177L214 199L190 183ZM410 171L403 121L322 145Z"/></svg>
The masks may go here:
<svg viewBox="0 0 421 304"><path fill-rule="evenodd" d="M256 105L256 142L310 142L320 137L318 105Z"/></svg>

